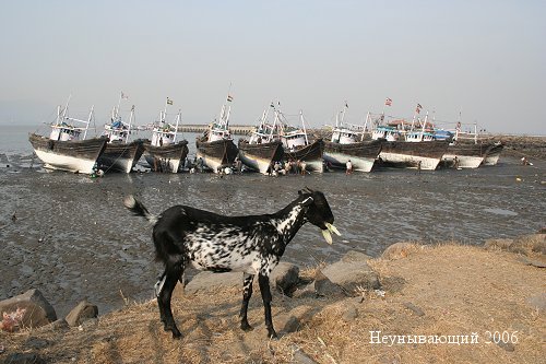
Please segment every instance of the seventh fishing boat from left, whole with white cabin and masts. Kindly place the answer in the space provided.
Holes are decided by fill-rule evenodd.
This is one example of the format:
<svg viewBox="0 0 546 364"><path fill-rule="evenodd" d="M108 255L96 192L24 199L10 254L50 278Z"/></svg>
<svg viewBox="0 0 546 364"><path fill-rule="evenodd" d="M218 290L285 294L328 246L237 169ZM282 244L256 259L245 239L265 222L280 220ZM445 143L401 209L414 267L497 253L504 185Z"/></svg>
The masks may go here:
<svg viewBox="0 0 546 364"><path fill-rule="evenodd" d="M335 127L330 141L324 141L323 158L333 168L346 168L351 161L353 171L370 172L381 151L380 140L364 140L364 126L344 121L348 106L335 116ZM340 117L341 115L341 117Z"/></svg>

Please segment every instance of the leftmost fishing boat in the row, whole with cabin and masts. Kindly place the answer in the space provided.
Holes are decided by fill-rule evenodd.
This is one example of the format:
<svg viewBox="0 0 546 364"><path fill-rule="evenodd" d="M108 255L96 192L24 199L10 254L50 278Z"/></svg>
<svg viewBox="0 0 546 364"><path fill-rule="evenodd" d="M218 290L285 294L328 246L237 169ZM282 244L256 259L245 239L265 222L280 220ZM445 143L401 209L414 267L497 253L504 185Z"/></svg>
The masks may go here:
<svg viewBox="0 0 546 364"><path fill-rule="evenodd" d="M93 119L93 107L87 120L69 117L69 101L64 108L57 108L57 120L50 125L49 137L32 133L28 137L34 152L47 169L73 173L94 174L96 163L106 149L106 138L86 139L90 122ZM72 122L83 124L75 127Z"/></svg>

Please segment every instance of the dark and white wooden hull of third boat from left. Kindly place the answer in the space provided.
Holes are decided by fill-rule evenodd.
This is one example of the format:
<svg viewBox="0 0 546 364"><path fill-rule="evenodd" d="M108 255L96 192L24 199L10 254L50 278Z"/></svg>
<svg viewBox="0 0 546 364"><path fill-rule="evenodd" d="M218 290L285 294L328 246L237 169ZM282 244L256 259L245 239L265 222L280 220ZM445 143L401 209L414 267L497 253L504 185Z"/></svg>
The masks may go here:
<svg viewBox="0 0 546 364"><path fill-rule="evenodd" d="M188 141L175 144L154 146L150 140L144 141L144 158L154 172L178 173L188 156Z"/></svg>

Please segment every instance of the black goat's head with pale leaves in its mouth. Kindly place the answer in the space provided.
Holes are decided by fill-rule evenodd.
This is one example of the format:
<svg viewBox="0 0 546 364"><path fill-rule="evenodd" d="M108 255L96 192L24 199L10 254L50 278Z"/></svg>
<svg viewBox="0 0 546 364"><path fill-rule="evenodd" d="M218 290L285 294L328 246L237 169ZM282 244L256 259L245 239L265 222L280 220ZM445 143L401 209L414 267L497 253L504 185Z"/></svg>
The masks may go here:
<svg viewBox="0 0 546 364"><path fill-rule="evenodd" d="M332 235L330 235L330 233L332 232L340 236L341 234L333 225L334 214L330 209L330 204L328 203L324 193L321 191L313 191L308 187L298 191L298 193L302 197L304 206L307 207L307 221L316 226L319 226L327 243L332 244Z"/></svg>

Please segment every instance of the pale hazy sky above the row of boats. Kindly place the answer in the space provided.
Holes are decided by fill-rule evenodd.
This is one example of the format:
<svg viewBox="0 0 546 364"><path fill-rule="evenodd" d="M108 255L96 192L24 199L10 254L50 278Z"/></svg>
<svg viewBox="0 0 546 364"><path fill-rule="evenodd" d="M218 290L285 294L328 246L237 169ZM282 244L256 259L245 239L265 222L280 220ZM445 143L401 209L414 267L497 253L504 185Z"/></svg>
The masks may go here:
<svg viewBox="0 0 546 364"><path fill-rule="evenodd" d="M2 1L0 122L75 116L103 124L121 91L136 124L165 105L188 124L232 124L272 99L311 126L368 110L545 134L546 1ZM130 105L126 105L129 108Z"/></svg>

